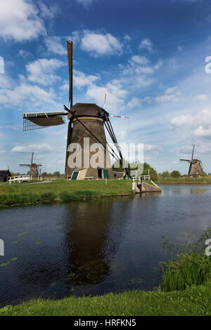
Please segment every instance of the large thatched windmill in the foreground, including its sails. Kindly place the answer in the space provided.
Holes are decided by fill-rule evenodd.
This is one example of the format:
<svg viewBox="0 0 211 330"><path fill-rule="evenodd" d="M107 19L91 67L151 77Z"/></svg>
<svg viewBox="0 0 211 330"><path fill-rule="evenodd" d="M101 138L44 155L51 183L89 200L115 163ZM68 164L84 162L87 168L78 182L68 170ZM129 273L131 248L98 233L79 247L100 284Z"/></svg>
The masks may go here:
<svg viewBox="0 0 211 330"><path fill-rule="evenodd" d="M67 41L69 67L69 103L63 111L34 112L23 114L23 131L56 126L68 119L67 147L65 155L65 176L74 179L114 178L110 154L122 165L120 147L110 123L110 115L94 103L72 102L72 41ZM116 151L106 141L105 127ZM98 144L98 145L96 145ZM77 157L79 156L79 157ZM97 157L96 157L97 156ZM75 159L79 159L76 162ZM95 165L93 165L94 159ZM75 163L74 163L75 161ZM128 170L125 169L126 173Z"/></svg>

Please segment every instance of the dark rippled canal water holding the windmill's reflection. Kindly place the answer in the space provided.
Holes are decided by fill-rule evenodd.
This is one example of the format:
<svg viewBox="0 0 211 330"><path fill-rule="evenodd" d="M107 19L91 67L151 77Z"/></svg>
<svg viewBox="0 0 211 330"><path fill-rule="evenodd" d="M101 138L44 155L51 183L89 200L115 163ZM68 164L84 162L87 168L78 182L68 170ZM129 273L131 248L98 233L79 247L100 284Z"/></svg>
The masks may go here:
<svg viewBox="0 0 211 330"><path fill-rule="evenodd" d="M162 242L198 239L210 202L211 185L164 185L134 198L0 209L0 306L156 289Z"/></svg>

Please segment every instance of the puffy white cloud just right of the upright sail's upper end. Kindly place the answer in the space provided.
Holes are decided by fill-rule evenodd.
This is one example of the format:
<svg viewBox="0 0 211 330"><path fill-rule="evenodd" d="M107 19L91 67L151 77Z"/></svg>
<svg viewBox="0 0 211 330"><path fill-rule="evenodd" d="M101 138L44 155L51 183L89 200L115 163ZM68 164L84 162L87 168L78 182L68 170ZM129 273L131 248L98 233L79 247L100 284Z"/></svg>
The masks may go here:
<svg viewBox="0 0 211 330"><path fill-rule="evenodd" d="M81 48L94 56L120 54L122 44L112 34L101 34L84 30Z"/></svg>

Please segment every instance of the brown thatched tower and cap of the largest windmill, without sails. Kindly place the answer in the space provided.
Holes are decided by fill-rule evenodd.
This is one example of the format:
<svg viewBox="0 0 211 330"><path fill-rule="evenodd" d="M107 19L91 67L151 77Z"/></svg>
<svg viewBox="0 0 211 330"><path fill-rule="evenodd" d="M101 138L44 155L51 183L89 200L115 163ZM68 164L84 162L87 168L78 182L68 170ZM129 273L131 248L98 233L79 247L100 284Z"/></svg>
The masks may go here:
<svg viewBox="0 0 211 330"><path fill-rule="evenodd" d="M72 119L72 114L68 114L68 119L72 121L68 146L78 144L81 147L79 150L81 166L75 168L72 166L75 150L69 148L66 154L65 175L72 176L74 171L79 171L78 179L114 178L108 148L103 147L103 145L107 145L104 123L101 118L103 109L94 103L76 103L71 110L75 112L79 121ZM92 132L94 135L91 134ZM98 144L98 140L101 141L102 147L95 145ZM88 149L89 154L87 154ZM98 157L95 157L96 152ZM95 160L96 167L92 164Z"/></svg>

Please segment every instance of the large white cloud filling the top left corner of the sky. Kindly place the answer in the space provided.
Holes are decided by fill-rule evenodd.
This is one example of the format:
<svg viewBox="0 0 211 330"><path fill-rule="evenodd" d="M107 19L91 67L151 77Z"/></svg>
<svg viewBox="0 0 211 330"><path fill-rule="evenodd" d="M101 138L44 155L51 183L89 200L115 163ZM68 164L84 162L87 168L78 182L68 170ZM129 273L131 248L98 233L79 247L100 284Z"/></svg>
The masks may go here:
<svg viewBox="0 0 211 330"><path fill-rule="evenodd" d="M26 41L46 35L39 10L31 0L0 2L0 36L4 39Z"/></svg>

